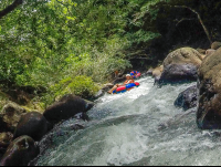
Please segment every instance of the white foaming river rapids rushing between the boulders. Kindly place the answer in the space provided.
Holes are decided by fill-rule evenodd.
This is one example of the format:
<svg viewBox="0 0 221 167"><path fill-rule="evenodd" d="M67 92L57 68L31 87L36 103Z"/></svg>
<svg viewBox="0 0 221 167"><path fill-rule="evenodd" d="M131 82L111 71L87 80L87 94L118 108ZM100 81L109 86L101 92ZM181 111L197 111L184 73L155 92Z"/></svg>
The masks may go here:
<svg viewBox="0 0 221 167"><path fill-rule="evenodd" d="M60 125L36 165L220 165L220 133L201 132L196 112L173 106L178 94L196 83L159 88L151 77L138 82L130 92L101 97L88 112L91 122ZM75 123L85 128L74 132Z"/></svg>

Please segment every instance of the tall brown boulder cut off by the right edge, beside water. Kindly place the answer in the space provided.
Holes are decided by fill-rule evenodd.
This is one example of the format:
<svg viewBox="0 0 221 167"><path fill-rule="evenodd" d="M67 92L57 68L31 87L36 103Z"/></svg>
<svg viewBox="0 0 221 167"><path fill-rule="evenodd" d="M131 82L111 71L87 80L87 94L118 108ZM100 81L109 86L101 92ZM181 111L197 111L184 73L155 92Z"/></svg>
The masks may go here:
<svg viewBox="0 0 221 167"><path fill-rule="evenodd" d="M197 123L203 129L221 128L221 48L204 59L199 70Z"/></svg>

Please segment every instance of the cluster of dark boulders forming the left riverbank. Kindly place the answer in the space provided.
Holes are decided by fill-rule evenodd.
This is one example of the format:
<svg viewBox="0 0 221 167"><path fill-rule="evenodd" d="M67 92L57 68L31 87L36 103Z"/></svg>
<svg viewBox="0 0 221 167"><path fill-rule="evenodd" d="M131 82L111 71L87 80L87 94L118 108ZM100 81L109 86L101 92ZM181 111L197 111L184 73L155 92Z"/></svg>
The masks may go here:
<svg viewBox="0 0 221 167"><path fill-rule="evenodd" d="M76 114L86 115L94 104L74 95L65 95L43 114L27 112L15 103L0 113L1 166L28 166L40 154L38 142L56 124Z"/></svg>

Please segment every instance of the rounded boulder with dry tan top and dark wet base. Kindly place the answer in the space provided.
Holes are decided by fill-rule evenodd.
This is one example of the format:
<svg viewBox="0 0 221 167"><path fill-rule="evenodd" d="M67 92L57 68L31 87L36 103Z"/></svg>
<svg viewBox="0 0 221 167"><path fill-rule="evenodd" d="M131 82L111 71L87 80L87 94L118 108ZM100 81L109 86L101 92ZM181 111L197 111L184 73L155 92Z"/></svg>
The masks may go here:
<svg viewBox="0 0 221 167"><path fill-rule="evenodd" d="M171 52L164 61L160 84L197 81L198 69L204 55L191 48L182 48Z"/></svg>

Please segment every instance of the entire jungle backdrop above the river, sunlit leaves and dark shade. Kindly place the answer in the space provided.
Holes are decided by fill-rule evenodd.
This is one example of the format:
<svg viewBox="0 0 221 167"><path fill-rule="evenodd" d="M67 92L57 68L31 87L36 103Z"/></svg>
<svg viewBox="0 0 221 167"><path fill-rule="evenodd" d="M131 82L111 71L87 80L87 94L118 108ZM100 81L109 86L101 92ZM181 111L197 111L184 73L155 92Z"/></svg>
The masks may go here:
<svg viewBox="0 0 221 167"><path fill-rule="evenodd" d="M147 70L221 38L215 0L0 0L0 84L38 101L90 98L115 71ZM36 93L35 91L34 93Z"/></svg>

